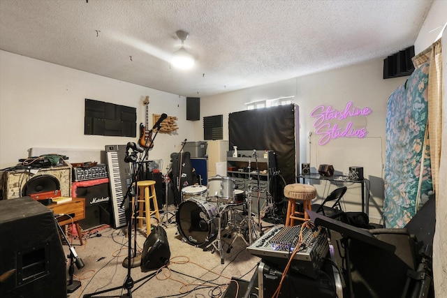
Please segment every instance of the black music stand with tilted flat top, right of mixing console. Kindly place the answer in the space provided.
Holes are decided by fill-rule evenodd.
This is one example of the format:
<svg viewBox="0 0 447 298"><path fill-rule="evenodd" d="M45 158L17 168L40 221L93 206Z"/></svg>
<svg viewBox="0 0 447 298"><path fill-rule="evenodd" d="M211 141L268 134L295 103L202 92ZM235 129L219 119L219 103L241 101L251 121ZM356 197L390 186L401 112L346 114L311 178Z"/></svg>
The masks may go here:
<svg viewBox="0 0 447 298"><path fill-rule="evenodd" d="M317 214L312 210L307 210L307 214L309 214L309 218L315 223L315 225L321 225L330 230L335 230L342 234L342 247L344 247L344 255L346 258L346 284L349 288L350 297L354 297L353 285L352 285L352 276L351 276L351 259L349 256L349 239L357 239L359 241L363 241L367 244L377 246L386 251L390 251L394 253L396 251L396 246L393 244L388 244L383 242L376 237L374 237L367 230L362 230L360 228L356 228L353 225L348 225L346 223L342 223L341 221L337 221L335 219L329 218L327 216L323 216L321 214Z"/></svg>

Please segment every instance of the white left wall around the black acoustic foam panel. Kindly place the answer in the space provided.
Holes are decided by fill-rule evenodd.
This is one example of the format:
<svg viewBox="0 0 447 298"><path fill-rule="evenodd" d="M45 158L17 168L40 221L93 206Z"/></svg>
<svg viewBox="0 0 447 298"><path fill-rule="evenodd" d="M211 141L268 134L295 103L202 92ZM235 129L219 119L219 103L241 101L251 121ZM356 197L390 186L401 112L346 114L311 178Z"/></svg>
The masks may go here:
<svg viewBox="0 0 447 298"><path fill-rule="evenodd" d="M85 98L136 107L138 125L145 123L145 96L149 124L152 114L177 117L177 132L159 133L149 151L150 159L163 159L163 172L170 154L193 136L184 97L10 52L0 51L0 65L0 169L27 158L31 147L104 150L106 144L138 141L139 131L135 138L84 135Z"/></svg>

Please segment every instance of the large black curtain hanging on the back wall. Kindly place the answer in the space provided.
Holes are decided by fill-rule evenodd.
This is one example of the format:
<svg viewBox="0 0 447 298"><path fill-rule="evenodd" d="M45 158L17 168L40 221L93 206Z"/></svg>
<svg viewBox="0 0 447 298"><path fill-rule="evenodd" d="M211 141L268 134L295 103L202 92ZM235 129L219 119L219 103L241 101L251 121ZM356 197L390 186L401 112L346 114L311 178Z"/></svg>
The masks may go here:
<svg viewBox="0 0 447 298"><path fill-rule="evenodd" d="M287 184L295 183L295 109L295 105L281 105L230 113L229 149L275 151L277 170Z"/></svg>

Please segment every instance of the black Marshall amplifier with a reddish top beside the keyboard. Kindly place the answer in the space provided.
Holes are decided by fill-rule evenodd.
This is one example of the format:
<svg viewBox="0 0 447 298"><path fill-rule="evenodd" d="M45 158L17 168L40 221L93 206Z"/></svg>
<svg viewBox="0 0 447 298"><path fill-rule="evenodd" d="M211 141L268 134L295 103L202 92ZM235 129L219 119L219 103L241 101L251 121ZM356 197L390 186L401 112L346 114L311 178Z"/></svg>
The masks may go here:
<svg viewBox="0 0 447 298"><path fill-rule="evenodd" d="M110 225L112 212L108 178L73 182L72 197L85 198L85 219L79 221L84 230Z"/></svg>

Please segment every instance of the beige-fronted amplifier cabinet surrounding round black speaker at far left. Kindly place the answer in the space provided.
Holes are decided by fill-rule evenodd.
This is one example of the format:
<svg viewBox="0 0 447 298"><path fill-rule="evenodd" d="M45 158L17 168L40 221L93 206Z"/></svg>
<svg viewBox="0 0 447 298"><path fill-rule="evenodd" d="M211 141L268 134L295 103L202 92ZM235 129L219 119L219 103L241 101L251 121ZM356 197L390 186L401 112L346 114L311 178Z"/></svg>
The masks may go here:
<svg viewBox="0 0 447 298"><path fill-rule="evenodd" d="M27 181L39 175L50 175L59 180L61 196L71 197L71 166L48 167L30 171L12 170L0 172L1 199L9 200L22 197L22 190Z"/></svg>

